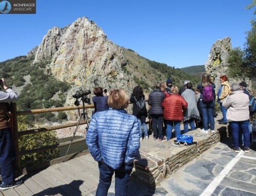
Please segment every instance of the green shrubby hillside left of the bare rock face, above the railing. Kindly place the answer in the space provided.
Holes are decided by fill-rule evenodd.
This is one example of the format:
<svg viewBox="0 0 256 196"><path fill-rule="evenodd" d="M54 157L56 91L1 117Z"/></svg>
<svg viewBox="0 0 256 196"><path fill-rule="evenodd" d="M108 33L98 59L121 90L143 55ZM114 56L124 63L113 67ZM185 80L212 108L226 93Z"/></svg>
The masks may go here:
<svg viewBox="0 0 256 196"><path fill-rule="evenodd" d="M61 107L66 101L66 94L70 86L66 82L57 81L45 73L45 64L31 64L34 56L19 56L0 62L0 74L5 78L8 86L19 90L17 106L19 110ZM29 76L29 77L27 77ZM26 80L29 78L29 81ZM54 95L58 95L54 98ZM60 113L61 115L61 113ZM45 113L29 116L34 118L57 120L54 114ZM63 118L63 116L61 116Z"/></svg>

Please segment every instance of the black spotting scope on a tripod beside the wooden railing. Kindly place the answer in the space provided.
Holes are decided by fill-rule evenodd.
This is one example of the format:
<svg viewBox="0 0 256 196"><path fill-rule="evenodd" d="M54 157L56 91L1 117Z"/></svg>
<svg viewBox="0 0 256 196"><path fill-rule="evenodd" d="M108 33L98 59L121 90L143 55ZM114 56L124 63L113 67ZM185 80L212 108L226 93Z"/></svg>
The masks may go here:
<svg viewBox="0 0 256 196"><path fill-rule="evenodd" d="M80 105L80 101L82 101L82 113L80 114L80 110L78 109L78 113L79 113L79 117L80 117L80 118L79 118L78 123L77 123L77 125L76 125L76 128L75 128L75 130L74 130L73 137L72 137L72 139L71 139L71 141L70 141L70 144L69 144L68 150L67 150L67 152L66 152L66 155L65 155L65 157L64 157L64 159L63 159L63 162L65 162L65 160L66 160L66 157L67 157L67 155L68 155L69 148L70 148L70 146L71 146L71 144L72 144L72 142L73 142L73 140L74 140L74 138L75 138L76 131L77 131L77 128L78 128L78 126L79 126L79 124L80 124L81 119L83 119L83 120L86 121L86 123L87 123L86 132L87 132L87 130L88 130L89 122L88 122L88 119L87 119L87 116L86 116L86 115L87 115L86 107L85 107L84 105L85 105L85 103L87 103L87 104L89 104L89 105L91 104L90 98L87 97L89 94L91 94L91 91L90 91L90 90L82 91L82 92L77 91L77 92L73 95L73 98L76 99L76 101L75 101L75 103L74 103L76 106L79 106L79 105ZM79 100L79 98L81 98L81 99Z"/></svg>

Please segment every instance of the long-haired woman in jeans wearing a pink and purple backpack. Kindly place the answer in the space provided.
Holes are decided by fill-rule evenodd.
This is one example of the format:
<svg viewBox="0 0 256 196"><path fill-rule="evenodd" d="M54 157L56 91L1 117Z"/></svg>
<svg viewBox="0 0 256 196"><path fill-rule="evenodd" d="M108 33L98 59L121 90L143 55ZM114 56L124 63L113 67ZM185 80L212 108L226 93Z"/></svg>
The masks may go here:
<svg viewBox="0 0 256 196"><path fill-rule="evenodd" d="M203 97L205 95L206 89L211 90L211 100L206 101ZM203 118L203 128L201 131L203 133L215 132L215 122L214 122L214 107L215 107L215 84L211 81L209 74L203 73L201 77L201 82L198 84L197 89L200 90L200 109ZM204 91L205 89L205 91ZM209 126L210 125L210 126Z"/></svg>

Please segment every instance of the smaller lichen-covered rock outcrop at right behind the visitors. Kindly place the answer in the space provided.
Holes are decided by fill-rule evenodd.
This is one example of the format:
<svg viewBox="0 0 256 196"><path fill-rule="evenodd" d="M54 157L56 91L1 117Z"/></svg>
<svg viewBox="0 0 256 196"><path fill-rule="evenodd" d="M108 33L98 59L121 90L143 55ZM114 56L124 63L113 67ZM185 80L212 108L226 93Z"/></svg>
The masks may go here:
<svg viewBox="0 0 256 196"><path fill-rule="evenodd" d="M231 39L230 37L225 37L223 39L217 40L210 50L210 54L205 63L205 71L214 80L216 85L216 93L220 88L220 76L227 75L228 69L228 53L231 50ZM243 78L230 78L228 77L228 83L231 85L233 83L240 83L244 81ZM249 78L245 78L245 82L248 85L248 89L251 90L252 83Z"/></svg>

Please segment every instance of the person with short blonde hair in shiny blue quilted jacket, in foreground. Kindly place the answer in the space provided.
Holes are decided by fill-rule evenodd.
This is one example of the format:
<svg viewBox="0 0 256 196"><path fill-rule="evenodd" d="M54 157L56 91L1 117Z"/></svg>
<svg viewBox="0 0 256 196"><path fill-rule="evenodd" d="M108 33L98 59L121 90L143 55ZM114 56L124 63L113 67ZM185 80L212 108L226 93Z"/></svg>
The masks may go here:
<svg viewBox="0 0 256 196"><path fill-rule="evenodd" d="M108 194L114 172L116 195L127 195L133 161L139 153L139 123L124 110L129 104L124 90L112 90L108 104L109 110L92 116L86 136L88 149L98 162L100 172L96 196Z"/></svg>

